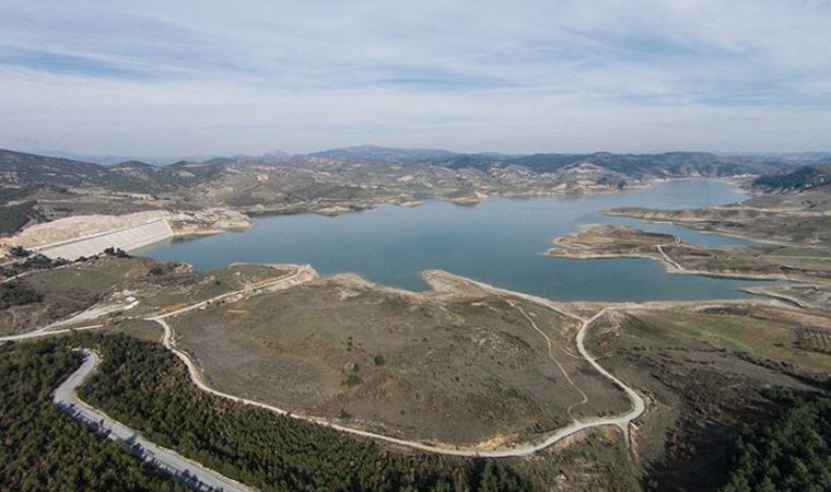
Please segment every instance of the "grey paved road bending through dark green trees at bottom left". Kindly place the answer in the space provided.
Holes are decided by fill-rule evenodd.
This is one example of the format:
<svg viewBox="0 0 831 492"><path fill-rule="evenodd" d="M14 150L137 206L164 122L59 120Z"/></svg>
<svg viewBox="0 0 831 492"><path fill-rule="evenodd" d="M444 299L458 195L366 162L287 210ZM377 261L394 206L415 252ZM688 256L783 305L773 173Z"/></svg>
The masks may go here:
<svg viewBox="0 0 831 492"><path fill-rule="evenodd" d="M204 468L196 461L191 461L175 452L156 446L139 435L136 431L110 419L103 412L90 407L78 398L77 389L86 377L95 371L100 359L95 352L80 350L84 355L81 367L72 373L58 389L55 390L52 401L65 412L75 420L86 423L108 438L125 441L133 453L153 467L166 475L176 477L197 490L250 492L249 489L230 478Z"/></svg>

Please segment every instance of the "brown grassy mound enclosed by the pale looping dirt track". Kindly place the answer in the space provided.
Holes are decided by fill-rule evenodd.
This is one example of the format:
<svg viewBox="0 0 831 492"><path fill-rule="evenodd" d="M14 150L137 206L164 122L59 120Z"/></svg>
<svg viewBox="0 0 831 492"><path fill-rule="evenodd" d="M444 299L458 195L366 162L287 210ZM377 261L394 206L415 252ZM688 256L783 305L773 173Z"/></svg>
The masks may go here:
<svg viewBox="0 0 831 492"><path fill-rule="evenodd" d="M570 412L629 408L575 355L575 320L511 302L337 278L173 326L219 389L388 434L493 446L562 426ZM554 341L551 353L529 319Z"/></svg>

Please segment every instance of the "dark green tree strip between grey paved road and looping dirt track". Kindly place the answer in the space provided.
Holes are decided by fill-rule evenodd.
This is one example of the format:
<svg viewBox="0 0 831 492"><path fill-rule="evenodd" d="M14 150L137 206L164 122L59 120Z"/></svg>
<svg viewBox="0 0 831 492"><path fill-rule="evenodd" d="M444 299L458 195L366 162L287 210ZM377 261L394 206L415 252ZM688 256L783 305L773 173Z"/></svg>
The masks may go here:
<svg viewBox="0 0 831 492"><path fill-rule="evenodd" d="M139 430L157 445L264 491L532 490L499 461L397 453L330 429L207 395L191 385L185 366L157 344L128 336L89 333L62 341L63 347L57 341L37 342L12 351L66 353L70 345L95 348L102 364L81 389L84 401ZM66 376L75 367L72 362L56 371ZM58 379L60 376L43 389L47 400ZM66 425L83 430L57 410L54 414ZM92 433L89 435L95 440Z"/></svg>

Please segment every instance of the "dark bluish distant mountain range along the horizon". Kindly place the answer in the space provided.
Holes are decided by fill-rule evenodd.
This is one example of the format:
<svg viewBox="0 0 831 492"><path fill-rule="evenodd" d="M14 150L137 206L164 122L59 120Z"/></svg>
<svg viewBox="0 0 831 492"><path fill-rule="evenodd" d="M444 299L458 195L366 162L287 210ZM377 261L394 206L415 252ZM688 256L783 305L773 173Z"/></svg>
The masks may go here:
<svg viewBox="0 0 831 492"><path fill-rule="evenodd" d="M312 160L312 161L309 161ZM107 165L86 161L0 150L0 183L44 184L74 188L103 188L124 192L160 192L206 183L230 166L295 163L303 165L319 160L432 165L448 169L478 169L492 173L498 168L525 168L528 172L558 173L581 164L592 164L616 175L634 179L655 177L737 176L789 172L804 160L768 156L726 156L705 152L668 152L662 154L593 154L540 153L506 155L499 153L463 154L438 149L390 149L372 145L331 149L305 155L284 153L266 156L211 157L204 161L182 160L155 165L145 161L126 160Z"/></svg>

